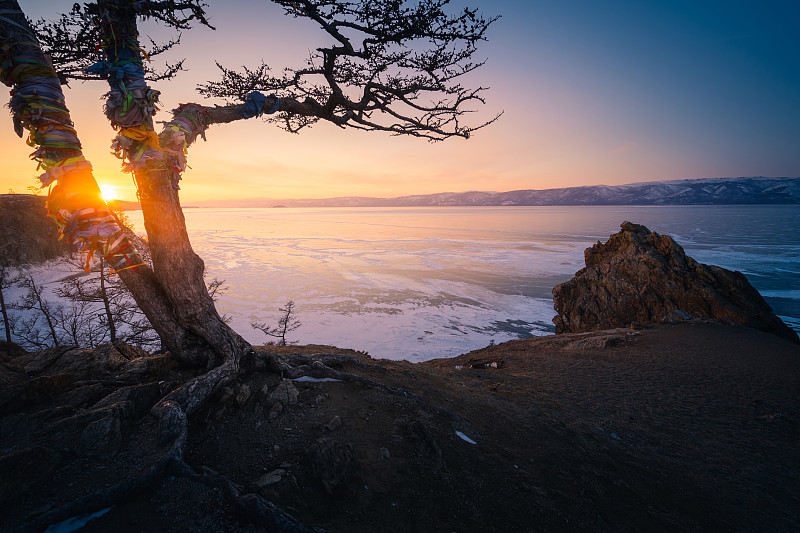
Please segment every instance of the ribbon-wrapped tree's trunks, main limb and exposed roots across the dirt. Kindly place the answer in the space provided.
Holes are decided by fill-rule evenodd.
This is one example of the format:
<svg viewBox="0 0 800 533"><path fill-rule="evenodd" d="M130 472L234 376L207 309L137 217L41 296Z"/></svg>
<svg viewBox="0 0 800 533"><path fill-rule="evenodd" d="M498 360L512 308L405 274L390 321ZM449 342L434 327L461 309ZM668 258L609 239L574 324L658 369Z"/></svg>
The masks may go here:
<svg viewBox="0 0 800 533"><path fill-rule="evenodd" d="M434 3L439 2L446 3L444 0L437 0ZM176 3L134 0L99 0L97 4L87 4L92 10L95 23L101 30L100 47L105 56L104 60L89 70L108 79L111 86L105 111L111 125L118 133L112 146L117 155L123 159L123 168L132 172L137 182L151 248L151 267L140 259L102 201L91 172L91 165L83 158L59 80L51 62L37 44L19 4L16 0L0 0L0 81L13 86L14 96L10 107L14 112L15 129L20 136L23 127L31 132L29 142L36 146L34 159L45 169L41 177L43 185L57 183L48 196L48 210L61 225L62 236L69 241L79 243L87 257L99 254L109 262L110 267L119 273L136 303L174 357L183 362L207 365L205 373L168 392L152 407L151 412L159 419L159 445L165 447L166 451L151 468L108 489L79 498L74 505L67 505L42 516L36 523L37 530L52 524L56 521L56 517L62 520L113 505L155 479L170 474L188 476L209 486L222 488L238 508L245 509L251 516L257 517L259 523L271 531L293 533L312 531L265 501L260 495L245 494L241 487L223 475L208 469L196 471L184 461L183 453L188 440L188 415L195 413L214 391L234 380L239 375L245 358L252 361L252 366L248 368L253 370L280 372L289 378L309 375L350 380L406 398L416 398L407 391L394 389L329 366L341 365L344 360L359 365L366 364L357 359L346 356L343 358L338 354L313 354L291 359L279 353L255 354L252 347L222 321L208 294L203 279L203 262L189 243L178 198L178 182L186 167L185 156L188 148L211 124L281 111L285 114L287 124L293 116L303 117L301 120L303 125L307 124L304 122L306 119L311 123L319 118L344 126L352 119L356 120L357 124L350 125L358 129L393 131L437 139L439 135L442 138L450 135L468 136L471 131L469 129L456 127L454 132L449 133L439 129L441 125L458 124L458 116L465 111L458 109L458 103L454 104L455 107L452 109L444 111L438 105L431 109L415 106L407 96L419 91L416 77L411 88L396 89L393 85L386 89L391 93L390 96L368 95L367 92L377 87L370 82L367 84L369 90L365 92L363 99L358 103L349 102L337 85L333 69L335 59L340 53L354 56L358 52L354 52L347 39L339 33L338 22L326 24L322 19L318 20L315 10L307 10L305 13L308 16L318 20L329 33L344 44L334 49L322 49L325 53L325 72L319 74L325 75L333 91L324 106L312 98L298 102L291 97L279 100L274 95L263 96L251 92L247 95L245 103L240 105L213 108L196 104L181 105L173 111L172 119L157 135L153 128L152 117L155 113L158 92L151 90L144 81L136 18L140 15L152 15L160 9L162 20L169 19L180 26L181 21L174 18L174 11L184 9L181 6L195 6L202 12L199 7L201 4L202 2L194 1ZM300 10L301 7L293 9ZM468 11L463 16L472 19L474 14ZM463 21L459 19L455 22ZM482 21L476 24L482 29L478 34L472 35L470 42L480 38L483 29L488 25ZM365 32L368 30L365 27L352 25L346 27ZM467 28L470 29L471 27ZM414 32L417 30L410 28L409 31L411 37L416 35ZM467 33L469 34L469 31ZM430 30L425 28L421 30L420 36L429 34L437 39L446 37L441 50L446 50L444 47L448 40L461 38L458 32L452 35L436 31L430 33ZM403 34L392 36L392 39L398 39L399 35ZM455 54L453 57L463 56ZM457 61L458 59L446 63L445 70L457 64ZM381 67L376 72L382 70ZM469 70L470 67L464 67L464 73ZM302 75L297 72L295 74L295 83L299 84L303 75L318 73L310 71ZM434 76L433 73L430 75ZM449 79L452 77L453 75ZM437 87L440 85L437 84ZM455 94L452 92L455 89L447 90L451 91L448 94ZM224 95L225 91L222 93ZM459 103L476 98L475 93L458 94ZM236 96L242 95L237 92ZM395 98L415 109L421 109L425 118L409 119L392 112L388 109L388 105ZM337 106L344 107L342 115L334 113ZM389 113L398 122L394 123L392 119L394 125L391 127L382 127L369 122L365 117L368 118L375 109ZM454 118L442 120L439 118L442 113L451 113ZM289 129L291 127L289 125ZM418 398L417 400L421 401ZM313 531L319 530L313 528Z"/></svg>

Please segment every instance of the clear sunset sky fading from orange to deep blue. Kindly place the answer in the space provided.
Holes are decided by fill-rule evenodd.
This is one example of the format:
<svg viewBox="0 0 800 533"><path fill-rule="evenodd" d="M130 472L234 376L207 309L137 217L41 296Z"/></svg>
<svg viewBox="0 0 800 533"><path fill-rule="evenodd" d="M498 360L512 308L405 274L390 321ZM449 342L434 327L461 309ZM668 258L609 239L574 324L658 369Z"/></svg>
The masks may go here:
<svg viewBox="0 0 800 533"><path fill-rule="evenodd" d="M454 2L454 9L461 4ZM787 65L782 57L782 66L773 68L757 57L771 49L749 49L755 45L747 36L736 39L745 24L754 26L755 34L769 32L778 41L775 50L786 49L797 37L781 28L759 27L774 22L739 13L737 2L731 3L730 13L715 13L714 26L701 24L705 19L697 13L636 12L633 7L624 11L627 20L618 13L592 13L593 2L580 9L514 0L482 4L487 13L503 15L481 50L488 63L472 80L491 86L482 116L503 110L496 124L468 141L435 144L330 124L300 135L259 119L213 126L208 142L199 141L189 154L183 203L800 174L800 95L794 80L782 74L793 63ZM38 18L70 5L31 0L24 9ZM263 57L279 70L299 64L309 48L327 42L308 23L284 17L269 5L243 0L216 5L209 8L216 32L198 29L184 35L179 55L188 58L189 72L153 84L162 92L163 108L202 102L193 87L216 76L215 59L237 67ZM662 36L647 26L656 15ZM603 16L619 27L604 26ZM752 42L763 47L762 41ZM798 61L793 54L789 60ZM713 60L713 68L701 59ZM745 78L757 76L759 87L742 89ZM101 110L106 90L105 82L73 82L66 90L67 105L98 181L133 199L132 179L120 173L119 161L109 153L114 133ZM8 99L4 92L0 103ZM165 120L166 114L156 118ZM8 113L0 118L0 149L0 192L27 192L37 174L28 159L32 150L14 135Z"/></svg>

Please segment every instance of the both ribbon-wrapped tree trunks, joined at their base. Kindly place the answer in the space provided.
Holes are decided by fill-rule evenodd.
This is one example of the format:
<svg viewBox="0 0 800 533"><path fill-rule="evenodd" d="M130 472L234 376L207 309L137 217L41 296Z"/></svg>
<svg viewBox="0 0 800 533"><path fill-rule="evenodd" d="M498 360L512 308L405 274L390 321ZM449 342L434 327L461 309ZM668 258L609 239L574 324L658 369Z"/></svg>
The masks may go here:
<svg viewBox="0 0 800 533"><path fill-rule="evenodd" d="M174 357L209 368L225 367L214 373L216 377L210 379L208 387L201 387L216 389L235 376L241 358L251 347L222 321L208 295L203 262L189 243L175 185L185 167L184 150L194 138L214 121L243 117L235 112L236 106L212 110L182 106L159 139L153 131L151 112L158 93L151 91L142 77L133 2L98 6L109 59L103 66L125 72L120 78L115 72L113 79L119 81L116 87L112 83L106 109L119 129L115 145L123 157L129 156L126 166L140 186L151 268L124 237L102 201L57 74L18 3L0 0L0 9L4 48L0 78L13 88L10 107L15 129L20 136L23 127L30 131L29 142L36 147L34 158L45 169L40 176L43 186L54 184L48 195L50 215L61 226L62 236L81 246L87 261L94 254L100 255L118 272ZM120 57L120 51L129 55ZM137 60L139 68L131 68ZM123 107L130 112L122 112ZM144 164L134 165L134 161Z"/></svg>

